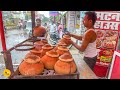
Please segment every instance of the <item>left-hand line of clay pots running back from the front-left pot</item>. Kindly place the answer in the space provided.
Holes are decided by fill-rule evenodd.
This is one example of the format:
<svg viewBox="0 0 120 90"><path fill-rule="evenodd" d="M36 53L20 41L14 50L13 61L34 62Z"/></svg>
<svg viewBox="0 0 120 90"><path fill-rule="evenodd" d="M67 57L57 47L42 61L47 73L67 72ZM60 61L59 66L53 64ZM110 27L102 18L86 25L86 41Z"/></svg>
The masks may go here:
<svg viewBox="0 0 120 90"><path fill-rule="evenodd" d="M47 40L41 40L34 43L35 49L25 56L23 62L19 65L19 72L24 76L34 76L42 74L44 71L44 64L41 61L42 47L48 44Z"/></svg>

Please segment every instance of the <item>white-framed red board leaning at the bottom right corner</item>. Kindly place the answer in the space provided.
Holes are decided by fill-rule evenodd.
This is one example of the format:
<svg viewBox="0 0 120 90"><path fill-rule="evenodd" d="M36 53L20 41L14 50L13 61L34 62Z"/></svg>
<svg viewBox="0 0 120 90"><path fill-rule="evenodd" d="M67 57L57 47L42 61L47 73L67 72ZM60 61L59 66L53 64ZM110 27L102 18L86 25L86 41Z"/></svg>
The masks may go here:
<svg viewBox="0 0 120 90"><path fill-rule="evenodd" d="M113 54L108 79L120 79L120 53L117 51Z"/></svg>

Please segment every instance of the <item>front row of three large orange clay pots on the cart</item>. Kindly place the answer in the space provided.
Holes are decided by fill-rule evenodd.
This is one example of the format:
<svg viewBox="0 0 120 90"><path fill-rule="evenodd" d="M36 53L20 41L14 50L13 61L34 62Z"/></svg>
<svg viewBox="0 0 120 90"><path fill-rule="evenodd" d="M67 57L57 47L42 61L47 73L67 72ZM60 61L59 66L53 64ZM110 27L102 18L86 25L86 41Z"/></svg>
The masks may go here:
<svg viewBox="0 0 120 90"><path fill-rule="evenodd" d="M56 74L71 74L76 72L76 64L70 54L64 53L59 57L55 50L51 50L42 58L29 55L19 66L19 72L24 76L40 75L44 69L55 70Z"/></svg>

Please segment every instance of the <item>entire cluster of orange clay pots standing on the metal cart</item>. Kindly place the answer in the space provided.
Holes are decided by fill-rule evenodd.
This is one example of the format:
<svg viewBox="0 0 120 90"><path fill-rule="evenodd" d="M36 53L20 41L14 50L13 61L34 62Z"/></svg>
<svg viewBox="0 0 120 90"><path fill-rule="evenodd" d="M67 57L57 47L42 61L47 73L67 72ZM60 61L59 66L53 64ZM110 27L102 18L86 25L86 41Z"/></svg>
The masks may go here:
<svg viewBox="0 0 120 90"><path fill-rule="evenodd" d="M76 64L66 43L59 41L55 48L41 41L34 45L35 49L26 55L19 66L22 75L39 75L44 69L55 70L57 74L70 74L76 71Z"/></svg>

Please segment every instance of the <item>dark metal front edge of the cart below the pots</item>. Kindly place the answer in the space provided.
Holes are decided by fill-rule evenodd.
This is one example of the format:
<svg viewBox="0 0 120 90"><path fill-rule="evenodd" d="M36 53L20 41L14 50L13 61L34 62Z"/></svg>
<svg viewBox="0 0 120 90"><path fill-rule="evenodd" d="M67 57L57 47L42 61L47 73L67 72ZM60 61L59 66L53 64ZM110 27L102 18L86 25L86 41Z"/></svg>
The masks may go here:
<svg viewBox="0 0 120 90"><path fill-rule="evenodd" d="M79 79L79 72L77 70L73 74L23 76L20 74L18 68L14 74L9 77L9 79Z"/></svg>

